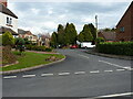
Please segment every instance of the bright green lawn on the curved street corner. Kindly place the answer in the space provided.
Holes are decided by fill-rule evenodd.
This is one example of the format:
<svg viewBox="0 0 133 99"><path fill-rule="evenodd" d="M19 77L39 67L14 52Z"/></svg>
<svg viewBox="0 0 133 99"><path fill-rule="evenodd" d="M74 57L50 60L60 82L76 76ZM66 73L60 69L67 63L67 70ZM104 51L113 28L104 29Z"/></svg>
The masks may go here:
<svg viewBox="0 0 133 99"><path fill-rule="evenodd" d="M33 67L41 64L49 64L51 62L47 62L45 58L50 56L55 56L59 59L64 58L64 56L61 54L39 54L33 52L24 52L24 55L22 56L19 56L18 52L13 52L13 54L17 55L19 64L2 67L3 72Z"/></svg>

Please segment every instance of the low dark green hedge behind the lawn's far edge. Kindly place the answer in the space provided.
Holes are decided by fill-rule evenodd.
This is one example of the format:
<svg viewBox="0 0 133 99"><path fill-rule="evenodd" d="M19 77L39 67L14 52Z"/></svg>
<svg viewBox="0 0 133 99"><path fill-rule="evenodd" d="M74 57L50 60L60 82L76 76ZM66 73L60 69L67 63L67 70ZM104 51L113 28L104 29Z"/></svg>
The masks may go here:
<svg viewBox="0 0 133 99"><path fill-rule="evenodd" d="M25 45L25 48L30 51L52 52L51 47L45 47L45 46Z"/></svg>

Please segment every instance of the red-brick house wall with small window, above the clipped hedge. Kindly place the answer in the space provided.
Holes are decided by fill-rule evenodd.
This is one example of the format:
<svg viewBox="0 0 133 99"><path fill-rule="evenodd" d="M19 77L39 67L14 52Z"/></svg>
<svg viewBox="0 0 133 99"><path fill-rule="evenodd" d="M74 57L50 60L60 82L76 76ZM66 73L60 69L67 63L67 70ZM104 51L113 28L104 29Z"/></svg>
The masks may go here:
<svg viewBox="0 0 133 99"><path fill-rule="evenodd" d="M133 1L116 25L116 41L133 41Z"/></svg>

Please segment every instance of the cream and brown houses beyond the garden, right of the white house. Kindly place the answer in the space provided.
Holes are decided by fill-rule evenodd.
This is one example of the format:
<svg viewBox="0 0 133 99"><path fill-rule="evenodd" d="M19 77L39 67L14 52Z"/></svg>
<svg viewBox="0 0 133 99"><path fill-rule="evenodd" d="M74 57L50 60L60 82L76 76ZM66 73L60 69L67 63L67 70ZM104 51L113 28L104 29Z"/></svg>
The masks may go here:
<svg viewBox="0 0 133 99"><path fill-rule="evenodd" d="M19 37L28 38L28 41L31 41L33 44L42 45L41 37L32 34L30 31L24 31L19 29L18 33L19 33Z"/></svg>

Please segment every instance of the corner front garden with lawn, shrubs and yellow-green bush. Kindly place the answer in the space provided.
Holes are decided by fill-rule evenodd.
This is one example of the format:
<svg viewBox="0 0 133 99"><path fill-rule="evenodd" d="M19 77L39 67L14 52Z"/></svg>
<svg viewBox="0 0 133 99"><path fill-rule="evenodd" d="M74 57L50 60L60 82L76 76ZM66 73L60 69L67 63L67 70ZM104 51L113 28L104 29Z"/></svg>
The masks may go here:
<svg viewBox="0 0 133 99"><path fill-rule="evenodd" d="M2 65L0 69L3 72L22 69L42 64L45 65L65 57L61 54L53 53L51 47L32 45L20 37L13 38L10 32L6 32L1 38ZM28 52L27 50L45 53ZM51 52L51 54L47 52Z"/></svg>

